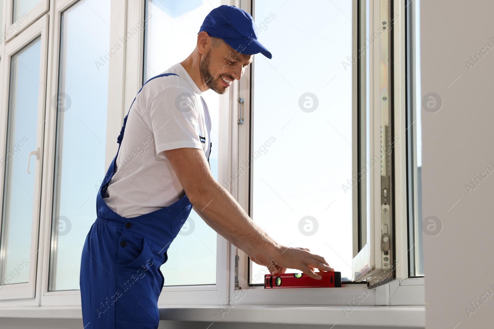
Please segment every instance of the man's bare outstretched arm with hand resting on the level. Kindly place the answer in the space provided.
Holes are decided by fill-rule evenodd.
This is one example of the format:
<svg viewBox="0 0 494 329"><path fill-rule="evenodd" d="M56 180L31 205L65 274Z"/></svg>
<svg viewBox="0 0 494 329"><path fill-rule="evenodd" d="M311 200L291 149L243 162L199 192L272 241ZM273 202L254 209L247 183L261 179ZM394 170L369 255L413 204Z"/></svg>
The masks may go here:
<svg viewBox="0 0 494 329"><path fill-rule="evenodd" d="M204 152L199 148L165 150L178 180L190 202L222 230L266 255L284 268L296 268L320 278L314 268L333 270L322 256L304 248L288 248L278 244L252 221L230 193L212 176Z"/></svg>

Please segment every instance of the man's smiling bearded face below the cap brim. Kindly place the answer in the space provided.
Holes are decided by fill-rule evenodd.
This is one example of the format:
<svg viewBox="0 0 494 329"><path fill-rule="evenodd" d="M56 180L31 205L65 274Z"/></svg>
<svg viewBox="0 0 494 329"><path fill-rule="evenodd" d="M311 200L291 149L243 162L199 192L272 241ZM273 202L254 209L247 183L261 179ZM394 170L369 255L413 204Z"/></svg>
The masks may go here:
<svg viewBox="0 0 494 329"><path fill-rule="evenodd" d="M250 63L252 55L240 54L223 43L217 48L209 49L201 60L200 70L206 86L218 94L224 94L235 79L240 80Z"/></svg>

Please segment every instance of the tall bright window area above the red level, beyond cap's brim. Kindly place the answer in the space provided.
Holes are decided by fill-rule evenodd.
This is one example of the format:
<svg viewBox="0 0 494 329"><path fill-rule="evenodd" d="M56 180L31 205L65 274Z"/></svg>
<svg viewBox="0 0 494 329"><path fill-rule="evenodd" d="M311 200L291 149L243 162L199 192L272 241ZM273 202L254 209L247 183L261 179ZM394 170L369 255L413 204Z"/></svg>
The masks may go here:
<svg viewBox="0 0 494 329"><path fill-rule="evenodd" d="M348 280L352 8L347 0L309 2L255 2L258 38L273 58L254 55L250 215L279 243L324 256ZM287 54L280 36L300 45ZM250 266L250 282L262 283L267 269Z"/></svg>

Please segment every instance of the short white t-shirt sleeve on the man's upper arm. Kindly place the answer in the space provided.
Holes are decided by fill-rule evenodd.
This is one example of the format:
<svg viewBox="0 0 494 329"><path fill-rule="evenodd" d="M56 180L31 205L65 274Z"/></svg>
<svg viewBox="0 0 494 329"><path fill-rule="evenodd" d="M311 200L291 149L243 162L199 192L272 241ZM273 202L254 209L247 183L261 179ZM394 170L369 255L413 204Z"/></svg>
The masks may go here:
<svg viewBox="0 0 494 329"><path fill-rule="evenodd" d="M157 156L166 159L164 151L174 148L203 149L198 127L200 108L196 97L186 88L166 87L148 104L145 112L149 115Z"/></svg>

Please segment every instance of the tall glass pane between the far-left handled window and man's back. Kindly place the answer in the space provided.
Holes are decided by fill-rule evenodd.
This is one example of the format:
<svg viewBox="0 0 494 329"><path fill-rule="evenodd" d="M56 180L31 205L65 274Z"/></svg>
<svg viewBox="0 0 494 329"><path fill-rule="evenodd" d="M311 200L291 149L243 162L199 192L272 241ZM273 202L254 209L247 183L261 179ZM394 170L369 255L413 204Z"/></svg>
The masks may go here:
<svg viewBox="0 0 494 329"><path fill-rule="evenodd" d="M82 245L105 176L110 0L62 13L49 287L79 289ZM58 98L57 98L58 97ZM83 179L81 179L83 178Z"/></svg>

